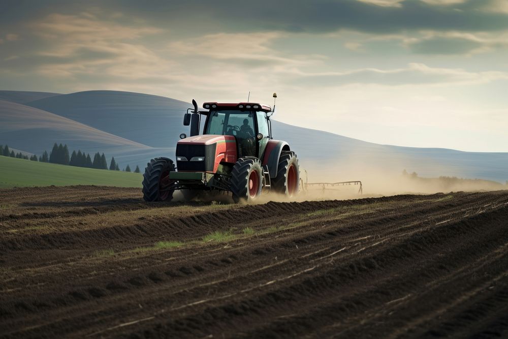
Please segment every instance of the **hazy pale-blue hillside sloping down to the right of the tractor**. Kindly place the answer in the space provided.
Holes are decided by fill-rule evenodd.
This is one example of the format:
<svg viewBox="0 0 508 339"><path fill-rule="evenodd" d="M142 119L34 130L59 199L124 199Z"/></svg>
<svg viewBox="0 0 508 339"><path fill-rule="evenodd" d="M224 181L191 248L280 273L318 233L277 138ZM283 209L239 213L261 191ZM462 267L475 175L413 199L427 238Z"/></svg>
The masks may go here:
<svg viewBox="0 0 508 339"><path fill-rule="evenodd" d="M508 180L508 153L380 145L274 121L275 139L288 140L312 180L390 181L403 169L421 176Z"/></svg>

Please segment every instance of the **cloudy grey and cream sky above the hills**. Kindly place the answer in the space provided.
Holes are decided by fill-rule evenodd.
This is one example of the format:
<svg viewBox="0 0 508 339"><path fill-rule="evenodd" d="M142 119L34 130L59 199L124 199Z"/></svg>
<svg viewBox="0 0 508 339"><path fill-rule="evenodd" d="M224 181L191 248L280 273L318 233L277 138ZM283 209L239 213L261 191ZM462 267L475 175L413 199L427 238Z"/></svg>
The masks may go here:
<svg viewBox="0 0 508 339"><path fill-rule="evenodd" d="M288 124L506 152L508 0L2 0L0 89L276 92Z"/></svg>

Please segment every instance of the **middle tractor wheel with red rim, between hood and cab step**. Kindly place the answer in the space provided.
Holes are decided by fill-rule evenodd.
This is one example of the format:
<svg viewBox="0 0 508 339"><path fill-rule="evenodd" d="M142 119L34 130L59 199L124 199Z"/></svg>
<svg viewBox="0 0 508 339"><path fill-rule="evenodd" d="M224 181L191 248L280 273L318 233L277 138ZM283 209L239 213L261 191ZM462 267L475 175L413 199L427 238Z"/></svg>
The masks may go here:
<svg viewBox="0 0 508 339"><path fill-rule="evenodd" d="M231 192L235 202L252 201L261 195L263 169L256 158L238 159L231 171Z"/></svg>

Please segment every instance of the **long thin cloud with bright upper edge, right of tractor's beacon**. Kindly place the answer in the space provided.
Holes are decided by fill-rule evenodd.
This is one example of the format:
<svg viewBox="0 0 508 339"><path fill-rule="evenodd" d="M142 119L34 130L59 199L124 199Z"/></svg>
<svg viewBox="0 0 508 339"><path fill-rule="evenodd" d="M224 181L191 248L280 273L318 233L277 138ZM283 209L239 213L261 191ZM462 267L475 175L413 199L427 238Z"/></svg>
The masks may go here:
<svg viewBox="0 0 508 339"><path fill-rule="evenodd" d="M301 73L291 79L296 85L342 86L349 84L399 85L470 85L508 79L508 72L468 72L463 69L432 68L410 63L406 68L364 68L345 72Z"/></svg>

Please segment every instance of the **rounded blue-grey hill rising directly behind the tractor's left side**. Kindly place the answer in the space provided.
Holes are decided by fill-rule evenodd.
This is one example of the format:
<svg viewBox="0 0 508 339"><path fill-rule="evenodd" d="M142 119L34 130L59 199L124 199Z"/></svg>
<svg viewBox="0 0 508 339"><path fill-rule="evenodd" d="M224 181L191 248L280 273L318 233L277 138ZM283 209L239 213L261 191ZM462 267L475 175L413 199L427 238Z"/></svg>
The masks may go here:
<svg viewBox="0 0 508 339"><path fill-rule="evenodd" d="M152 147L174 147L189 104L158 96L93 90L27 103Z"/></svg>

